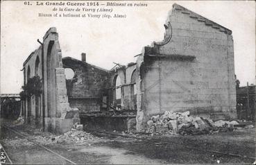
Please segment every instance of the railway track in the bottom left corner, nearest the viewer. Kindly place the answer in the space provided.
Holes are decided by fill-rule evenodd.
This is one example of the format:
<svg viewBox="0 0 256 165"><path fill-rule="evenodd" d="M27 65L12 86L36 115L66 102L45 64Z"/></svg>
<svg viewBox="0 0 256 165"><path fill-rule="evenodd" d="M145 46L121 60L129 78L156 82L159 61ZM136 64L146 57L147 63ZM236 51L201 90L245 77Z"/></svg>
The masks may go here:
<svg viewBox="0 0 256 165"><path fill-rule="evenodd" d="M24 139L27 139L28 141L31 141L33 144L36 144L37 146L40 146L40 148L43 148L44 150L48 151L49 153L52 153L53 155L56 155L57 157L60 157L61 159L65 159L65 161L69 162L69 164L76 164L75 162L71 161L70 159L67 159L66 157L63 157L62 155L54 152L53 150L47 148L46 146L42 146L42 144L39 144L36 141L33 141L32 139L29 139L28 137L26 137L26 135L18 132L15 129L9 128L6 125L1 125L1 127L6 128L6 129L10 130L11 132L14 132L15 134L19 135L19 137L23 137ZM7 153L6 153L6 155L7 155ZM10 163L12 164L12 160L10 159L9 156L8 156L8 159L10 160Z"/></svg>

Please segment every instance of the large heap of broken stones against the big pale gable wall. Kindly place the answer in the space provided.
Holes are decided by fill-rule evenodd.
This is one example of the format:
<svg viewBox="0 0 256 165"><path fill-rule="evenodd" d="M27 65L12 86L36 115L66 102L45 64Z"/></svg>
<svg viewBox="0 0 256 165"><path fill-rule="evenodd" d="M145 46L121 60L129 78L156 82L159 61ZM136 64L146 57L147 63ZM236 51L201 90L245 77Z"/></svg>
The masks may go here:
<svg viewBox="0 0 256 165"><path fill-rule="evenodd" d="M214 132L227 132L234 130L237 121L216 121L203 117L192 117L187 112L166 111L162 116L152 116L147 122L151 133L168 132L172 134L212 134Z"/></svg>

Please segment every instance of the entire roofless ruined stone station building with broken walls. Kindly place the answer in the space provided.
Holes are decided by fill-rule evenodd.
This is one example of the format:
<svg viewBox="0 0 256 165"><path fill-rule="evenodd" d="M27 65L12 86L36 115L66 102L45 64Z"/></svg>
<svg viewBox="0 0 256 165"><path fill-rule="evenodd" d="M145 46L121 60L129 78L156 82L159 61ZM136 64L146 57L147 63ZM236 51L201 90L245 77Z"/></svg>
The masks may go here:
<svg viewBox="0 0 256 165"><path fill-rule="evenodd" d="M136 63L109 71L88 64L85 53L82 60L62 58L50 28L24 62L24 83L35 74L44 82L40 98L26 99L26 117L36 122L43 114L44 127L57 132L78 121L77 112L85 123L114 121L128 129L135 123L137 130L164 111L236 118L232 31L177 4L164 28L164 40L145 46Z"/></svg>

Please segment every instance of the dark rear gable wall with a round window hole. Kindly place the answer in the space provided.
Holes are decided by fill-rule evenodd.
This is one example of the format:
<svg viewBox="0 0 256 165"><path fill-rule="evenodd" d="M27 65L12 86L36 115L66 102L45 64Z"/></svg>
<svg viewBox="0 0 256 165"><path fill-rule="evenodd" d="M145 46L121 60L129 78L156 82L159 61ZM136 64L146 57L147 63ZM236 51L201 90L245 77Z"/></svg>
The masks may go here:
<svg viewBox="0 0 256 165"><path fill-rule="evenodd" d="M75 73L72 80L66 80L70 106L77 107L80 112L100 111L104 107L103 96L108 95L108 71L72 58L62 61L65 68Z"/></svg>

